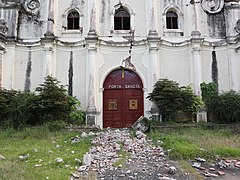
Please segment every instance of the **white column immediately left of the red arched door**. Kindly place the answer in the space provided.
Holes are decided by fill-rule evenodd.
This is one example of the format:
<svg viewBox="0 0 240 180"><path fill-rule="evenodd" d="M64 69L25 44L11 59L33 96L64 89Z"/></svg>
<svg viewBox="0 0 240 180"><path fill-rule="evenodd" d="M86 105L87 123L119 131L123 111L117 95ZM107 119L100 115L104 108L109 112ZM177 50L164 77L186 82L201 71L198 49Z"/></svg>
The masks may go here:
<svg viewBox="0 0 240 180"><path fill-rule="evenodd" d="M96 107L96 95L97 95L97 79L96 79L96 52L97 52L98 37L89 33L86 38L88 44L88 54L86 63L86 120L89 125L97 124L97 107Z"/></svg>

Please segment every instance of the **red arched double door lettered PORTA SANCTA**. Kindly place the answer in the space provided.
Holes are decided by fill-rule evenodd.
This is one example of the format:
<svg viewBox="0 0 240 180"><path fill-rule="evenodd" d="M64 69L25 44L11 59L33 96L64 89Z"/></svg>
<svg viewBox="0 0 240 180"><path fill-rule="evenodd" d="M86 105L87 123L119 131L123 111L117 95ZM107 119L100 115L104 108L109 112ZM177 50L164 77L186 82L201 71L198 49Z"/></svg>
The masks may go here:
<svg viewBox="0 0 240 180"><path fill-rule="evenodd" d="M103 84L103 127L123 128L143 115L143 84L127 69L111 72Z"/></svg>

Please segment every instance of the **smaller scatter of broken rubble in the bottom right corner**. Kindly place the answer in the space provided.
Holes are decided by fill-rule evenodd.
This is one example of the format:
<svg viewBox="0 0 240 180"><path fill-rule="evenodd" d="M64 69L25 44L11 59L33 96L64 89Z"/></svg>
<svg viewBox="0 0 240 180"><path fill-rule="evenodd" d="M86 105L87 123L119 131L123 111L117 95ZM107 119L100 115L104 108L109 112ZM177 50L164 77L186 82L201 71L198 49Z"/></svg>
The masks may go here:
<svg viewBox="0 0 240 180"><path fill-rule="evenodd" d="M195 161L192 162L192 167L197 169L205 177L219 178L219 176L224 176L226 171L240 170L240 161L220 159L215 163L207 163L205 159L195 158Z"/></svg>

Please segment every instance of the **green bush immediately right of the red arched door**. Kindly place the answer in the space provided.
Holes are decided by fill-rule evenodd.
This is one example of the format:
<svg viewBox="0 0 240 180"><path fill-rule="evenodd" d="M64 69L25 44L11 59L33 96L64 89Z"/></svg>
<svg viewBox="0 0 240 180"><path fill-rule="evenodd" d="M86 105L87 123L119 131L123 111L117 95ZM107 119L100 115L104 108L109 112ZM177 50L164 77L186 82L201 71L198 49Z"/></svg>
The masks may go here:
<svg viewBox="0 0 240 180"><path fill-rule="evenodd" d="M168 79L159 79L147 98L158 106L163 121L174 120L179 112L196 113L203 105L190 87Z"/></svg>

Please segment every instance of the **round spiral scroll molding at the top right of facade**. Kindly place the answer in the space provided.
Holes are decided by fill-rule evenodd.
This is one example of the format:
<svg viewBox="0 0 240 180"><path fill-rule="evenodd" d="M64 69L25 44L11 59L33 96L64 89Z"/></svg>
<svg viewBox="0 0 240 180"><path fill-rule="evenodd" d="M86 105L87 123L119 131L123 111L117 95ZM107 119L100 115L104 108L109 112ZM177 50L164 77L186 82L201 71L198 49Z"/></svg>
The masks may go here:
<svg viewBox="0 0 240 180"><path fill-rule="evenodd" d="M222 11L224 0L202 0L201 4L206 13L216 14Z"/></svg>

